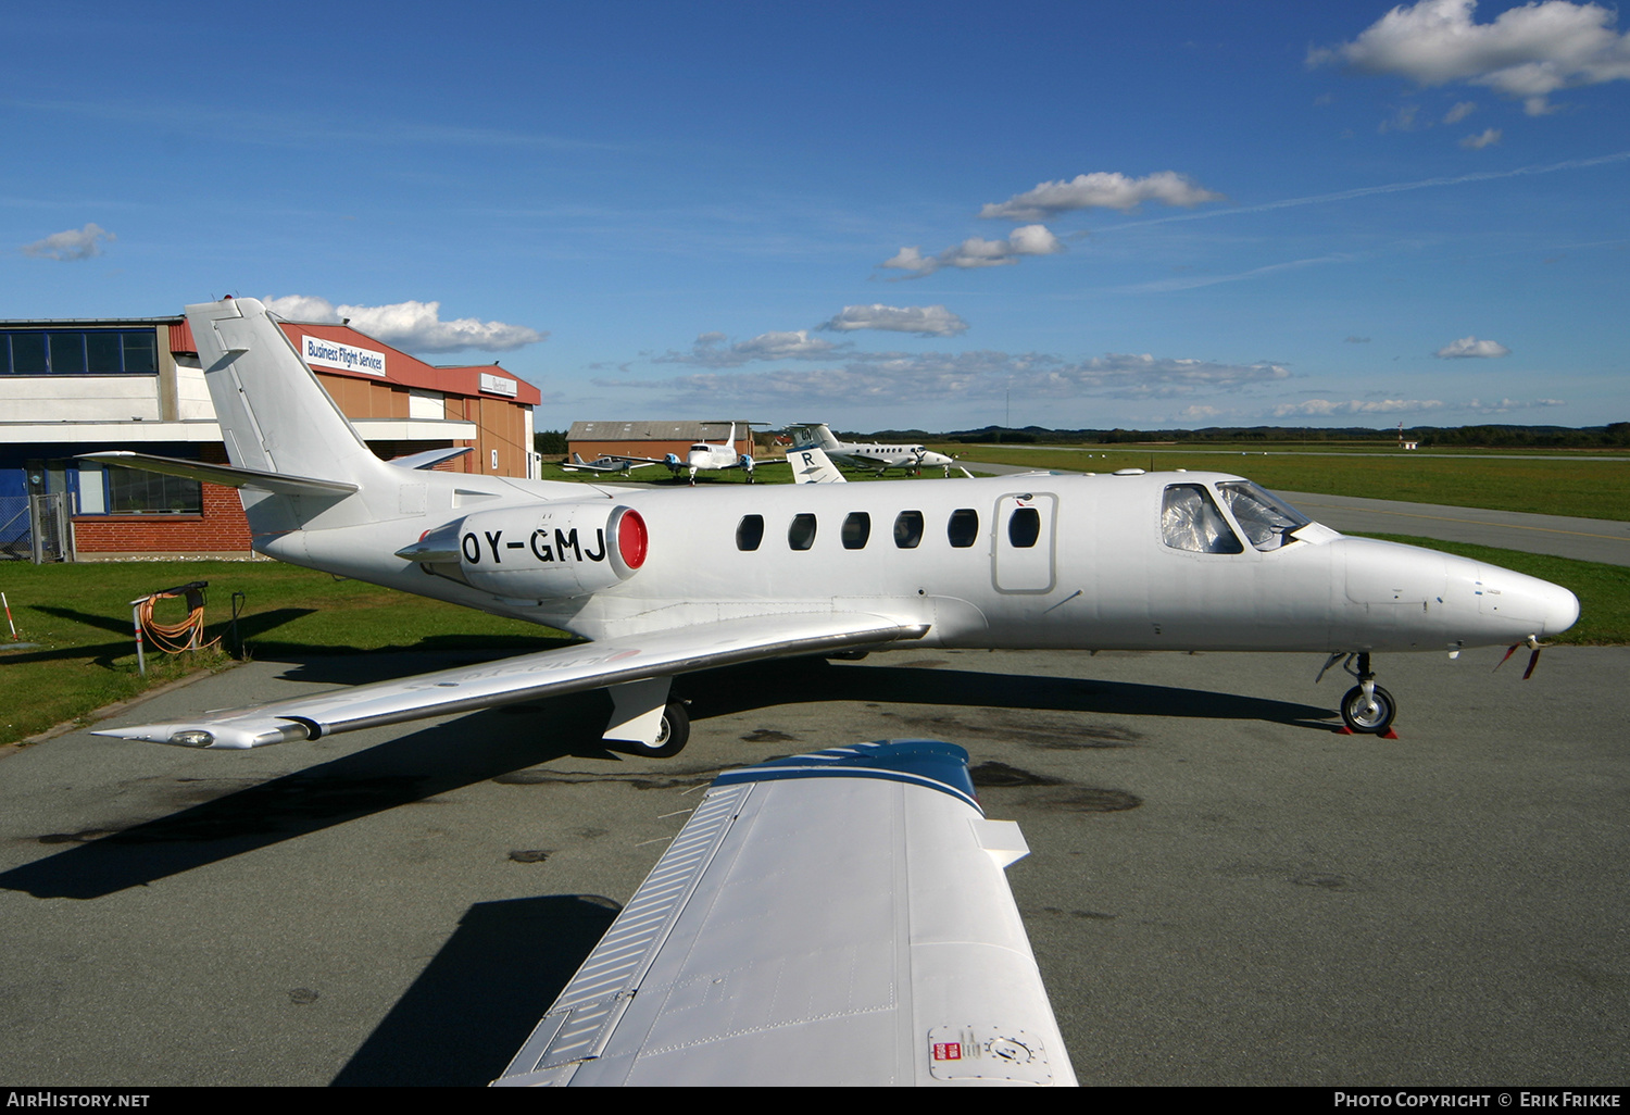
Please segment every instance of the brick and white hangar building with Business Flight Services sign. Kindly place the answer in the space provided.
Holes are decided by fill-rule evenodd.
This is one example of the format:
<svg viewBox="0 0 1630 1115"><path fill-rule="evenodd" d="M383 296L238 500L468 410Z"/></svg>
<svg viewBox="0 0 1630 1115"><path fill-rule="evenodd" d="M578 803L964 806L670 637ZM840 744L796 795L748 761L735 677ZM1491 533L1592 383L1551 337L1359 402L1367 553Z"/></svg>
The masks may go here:
<svg viewBox="0 0 1630 1115"><path fill-rule="evenodd" d="M435 367L346 324L282 329L378 456L468 445L437 468L538 474L525 380ZM0 321L3 556L28 556L29 496L57 492L80 559L249 553L236 491L75 460L103 450L227 461L186 318Z"/></svg>

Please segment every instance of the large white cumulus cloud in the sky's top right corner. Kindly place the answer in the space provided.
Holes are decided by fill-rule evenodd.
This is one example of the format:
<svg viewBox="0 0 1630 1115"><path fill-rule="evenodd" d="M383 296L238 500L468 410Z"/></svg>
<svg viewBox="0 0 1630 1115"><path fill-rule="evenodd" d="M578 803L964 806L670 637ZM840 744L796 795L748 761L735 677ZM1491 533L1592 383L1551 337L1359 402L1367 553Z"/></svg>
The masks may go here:
<svg viewBox="0 0 1630 1115"><path fill-rule="evenodd" d="M1531 116L1552 111L1562 88L1630 78L1630 37L1617 11L1596 3L1542 0L1477 23L1477 0L1399 5L1351 42L1309 52L1307 64L1341 60L1363 73L1397 73L1420 85L1469 82L1522 98Z"/></svg>

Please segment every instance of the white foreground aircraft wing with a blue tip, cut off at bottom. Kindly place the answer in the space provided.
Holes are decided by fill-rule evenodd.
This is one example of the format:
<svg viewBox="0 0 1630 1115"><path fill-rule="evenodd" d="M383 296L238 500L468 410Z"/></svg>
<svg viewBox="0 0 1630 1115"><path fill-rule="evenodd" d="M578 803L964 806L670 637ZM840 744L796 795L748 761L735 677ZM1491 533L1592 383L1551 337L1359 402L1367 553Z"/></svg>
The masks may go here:
<svg viewBox="0 0 1630 1115"><path fill-rule="evenodd" d="M720 774L494 1084L1076 1084L968 753Z"/></svg>

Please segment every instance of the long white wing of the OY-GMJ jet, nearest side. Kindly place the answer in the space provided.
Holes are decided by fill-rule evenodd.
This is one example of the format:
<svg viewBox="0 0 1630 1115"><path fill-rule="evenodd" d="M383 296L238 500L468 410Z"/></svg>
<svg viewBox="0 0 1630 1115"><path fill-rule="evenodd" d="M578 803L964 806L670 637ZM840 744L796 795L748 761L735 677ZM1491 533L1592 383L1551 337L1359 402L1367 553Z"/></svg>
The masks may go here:
<svg viewBox="0 0 1630 1115"><path fill-rule="evenodd" d="M266 747L758 659L921 639L924 634L926 624L864 613L761 615L580 642L253 709L205 712L174 724L103 729L96 735L220 750Z"/></svg>

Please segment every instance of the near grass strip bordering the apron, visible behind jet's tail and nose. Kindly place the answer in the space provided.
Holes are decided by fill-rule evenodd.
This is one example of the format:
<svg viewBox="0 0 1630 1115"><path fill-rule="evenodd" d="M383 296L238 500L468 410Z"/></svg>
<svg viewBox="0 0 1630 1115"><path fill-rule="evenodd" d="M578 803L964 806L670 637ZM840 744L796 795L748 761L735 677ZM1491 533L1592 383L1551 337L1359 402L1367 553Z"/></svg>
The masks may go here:
<svg viewBox="0 0 1630 1115"><path fill-rule="evenodd" d="M1630 569L1511 549L1394 538L1444 549L1566 585L1579 597L1579 623L1558 639L1571 644L1630 642ZM0 564L18 634L37 649L0 654L0 743L15 743L77 721L145 688L194 670L220 670L223 649L148 654L148 676L135 667L130 600L207 580L207 637L227 636L231 593L244 593L238 637L256 659L300 660L315 654L372 650L481 649L505 654L546 650L566 636L517 619L409 597L357 580L272 561L86 562L77 566ZM156 618L184 618L181 600L160 602ZM0 637L5 637L0 634Z"/></svg>

